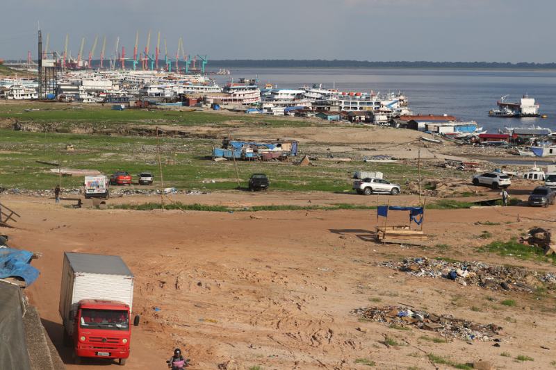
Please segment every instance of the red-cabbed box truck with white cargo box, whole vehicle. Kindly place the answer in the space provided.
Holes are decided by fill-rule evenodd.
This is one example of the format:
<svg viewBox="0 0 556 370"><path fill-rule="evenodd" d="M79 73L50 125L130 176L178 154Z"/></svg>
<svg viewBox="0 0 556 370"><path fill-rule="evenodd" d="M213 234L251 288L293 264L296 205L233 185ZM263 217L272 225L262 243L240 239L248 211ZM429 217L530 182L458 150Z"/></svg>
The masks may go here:
<svg viewBox="0 0 556 370"><path fill-rule="evenodd" d="M81 358L129 358L133 274L115 255L64 253L60 316L64 344ZM139 325L139 317L133 320Z"/></svg>

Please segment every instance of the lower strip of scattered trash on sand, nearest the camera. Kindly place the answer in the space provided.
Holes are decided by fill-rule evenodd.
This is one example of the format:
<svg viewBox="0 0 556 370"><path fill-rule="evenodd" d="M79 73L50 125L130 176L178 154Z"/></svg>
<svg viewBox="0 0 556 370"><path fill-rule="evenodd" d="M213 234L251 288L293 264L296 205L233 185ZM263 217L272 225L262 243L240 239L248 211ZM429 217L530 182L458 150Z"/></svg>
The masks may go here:
<svg viewBox="0 0 556 370"><path fill-rule="evenodd" d="M396 326L415 326L422 330L430 330L441 334L445 338L457 338L466 341L489 341L500 339L502 327L493 323L481 325L465 319L455 319L454 317L430 314L423 310L409 310L405 307L386 306L386 307L367 307L356 308L352 314L359 317L386 323Z"/></svg>

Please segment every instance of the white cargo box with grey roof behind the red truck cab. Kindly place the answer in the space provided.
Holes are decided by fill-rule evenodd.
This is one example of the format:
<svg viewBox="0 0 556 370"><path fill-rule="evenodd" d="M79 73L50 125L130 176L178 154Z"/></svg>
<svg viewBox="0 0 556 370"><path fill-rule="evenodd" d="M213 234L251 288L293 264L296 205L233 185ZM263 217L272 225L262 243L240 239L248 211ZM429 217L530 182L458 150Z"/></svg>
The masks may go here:
<svg viewBox="0 0 556 370"><path fill-rule="evenodd" d="M133 274L117 255L64 253L60 316L72 326L77 303L82 299L133 304ZM71 333L71 330L70 330Z"/></svg>

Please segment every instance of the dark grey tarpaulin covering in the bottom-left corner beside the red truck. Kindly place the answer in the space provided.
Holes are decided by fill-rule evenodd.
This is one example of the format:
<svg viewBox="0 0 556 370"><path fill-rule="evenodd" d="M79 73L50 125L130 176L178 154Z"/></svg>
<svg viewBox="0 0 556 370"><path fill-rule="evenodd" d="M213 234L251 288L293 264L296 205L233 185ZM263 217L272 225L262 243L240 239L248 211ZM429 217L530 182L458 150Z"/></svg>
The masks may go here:
<svg viewBox="0 0 556 370"><path fill-rule="evenodd" d="M31 369L19 287L0 281L0 369Z"/></svg>

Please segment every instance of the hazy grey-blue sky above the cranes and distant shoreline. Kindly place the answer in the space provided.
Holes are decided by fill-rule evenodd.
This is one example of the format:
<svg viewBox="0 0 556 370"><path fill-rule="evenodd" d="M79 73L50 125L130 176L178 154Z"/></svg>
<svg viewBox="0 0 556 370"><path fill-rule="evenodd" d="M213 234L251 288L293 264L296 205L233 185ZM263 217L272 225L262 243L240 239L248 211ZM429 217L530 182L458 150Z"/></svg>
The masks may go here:
<svg viewBox="0 0 556 370"><path fill-rule="evenodd" d="M555 62L555 0L3 0L0 58L36 58L38 24L50 49L73 56L95 36L126 53L161 31L175 55L211 59Z"/></svg>

